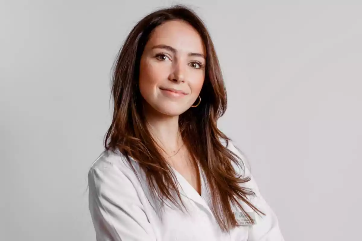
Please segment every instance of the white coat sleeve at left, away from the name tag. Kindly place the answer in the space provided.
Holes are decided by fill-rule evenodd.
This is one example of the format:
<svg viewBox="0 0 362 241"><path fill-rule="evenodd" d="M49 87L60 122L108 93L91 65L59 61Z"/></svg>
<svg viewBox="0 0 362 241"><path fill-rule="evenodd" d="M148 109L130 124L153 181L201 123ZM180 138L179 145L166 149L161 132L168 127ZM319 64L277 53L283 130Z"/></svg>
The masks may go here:
<svg viewBox="0 0 362 241"><path fill-rule="evenodd" d="M89 211L97 241L155 241L134 184L114 164L90 168Z"/></svg>

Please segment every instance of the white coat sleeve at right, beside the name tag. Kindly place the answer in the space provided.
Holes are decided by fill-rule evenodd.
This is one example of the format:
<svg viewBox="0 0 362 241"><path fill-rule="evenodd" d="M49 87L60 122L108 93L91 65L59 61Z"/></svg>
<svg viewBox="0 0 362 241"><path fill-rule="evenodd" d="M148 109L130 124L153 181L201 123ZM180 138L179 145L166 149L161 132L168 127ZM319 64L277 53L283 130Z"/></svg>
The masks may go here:
<svg viewBox="0 0 362 241"><path fill-rule="evenodd" d="M232 145L232 144L231 144ZM242 155L235 146L232 146L232 151L237 154L243 162L246 161L244 155ZM254 215L256 219L256 224L249 225L248 227L248 241L284 241L283 235L279 228L278 218L275 215L274 211L262 197L258 185L251 174L247 163L244 162L244 175L245 177L250 177L251 180L246 182L243 186L251 188L255 197L251 198L251 203L256 206L260 211L264 212L265 216L260 214Z"/></svg>

